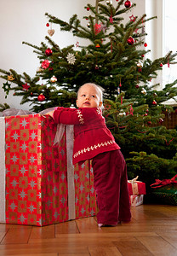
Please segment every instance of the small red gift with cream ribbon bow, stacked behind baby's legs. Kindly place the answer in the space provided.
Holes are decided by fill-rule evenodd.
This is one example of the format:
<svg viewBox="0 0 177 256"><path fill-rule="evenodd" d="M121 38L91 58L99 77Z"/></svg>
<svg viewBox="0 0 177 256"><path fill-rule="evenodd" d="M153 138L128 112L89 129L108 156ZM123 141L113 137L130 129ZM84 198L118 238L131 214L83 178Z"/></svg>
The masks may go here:
<svg viewBox="0 0 177 256"><path fill-rule="evenodd" d="M129 195L146 195L146 183L142 183L134 177L132 180L128 180L128 192Z"/></svg>

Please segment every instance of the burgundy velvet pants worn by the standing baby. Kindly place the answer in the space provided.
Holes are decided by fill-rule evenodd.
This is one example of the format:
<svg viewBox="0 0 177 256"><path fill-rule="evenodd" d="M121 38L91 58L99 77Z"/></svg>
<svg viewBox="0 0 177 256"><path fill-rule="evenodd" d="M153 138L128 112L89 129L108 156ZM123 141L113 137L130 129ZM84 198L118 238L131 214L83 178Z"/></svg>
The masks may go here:
<svg viewBox="0 0 177 256"><path fill-rule="evenodd" d="M98 154L92 162L98 224L130 221L127 166L120 150Z"/></svg>

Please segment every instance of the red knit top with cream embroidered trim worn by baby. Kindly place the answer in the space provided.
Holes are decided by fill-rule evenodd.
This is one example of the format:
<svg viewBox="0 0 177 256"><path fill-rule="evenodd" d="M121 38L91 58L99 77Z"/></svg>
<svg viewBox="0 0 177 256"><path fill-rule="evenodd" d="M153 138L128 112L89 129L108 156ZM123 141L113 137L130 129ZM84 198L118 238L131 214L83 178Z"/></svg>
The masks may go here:
<svg viewBox="0 0 177 256"><path fill-rule="evenodd" d="M120 149L106 127L100 108L56 108L54 122L74 125L73 164Z"/></svg>

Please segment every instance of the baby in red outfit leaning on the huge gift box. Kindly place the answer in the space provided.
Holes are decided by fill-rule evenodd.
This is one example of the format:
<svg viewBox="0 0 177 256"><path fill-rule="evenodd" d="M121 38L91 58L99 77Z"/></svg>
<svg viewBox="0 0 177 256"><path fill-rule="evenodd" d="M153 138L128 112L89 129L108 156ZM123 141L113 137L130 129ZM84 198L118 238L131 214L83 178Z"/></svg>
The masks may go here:
<svg viewBox="0 0 177 256"><path fill-rule="evenodd" d="M102 98L100 86L83 84L77 92L77 108L58 107L48 113L57 124L74 125L73 164L92 160L100 227L131 219L127 167L102 116Z"/></svg>

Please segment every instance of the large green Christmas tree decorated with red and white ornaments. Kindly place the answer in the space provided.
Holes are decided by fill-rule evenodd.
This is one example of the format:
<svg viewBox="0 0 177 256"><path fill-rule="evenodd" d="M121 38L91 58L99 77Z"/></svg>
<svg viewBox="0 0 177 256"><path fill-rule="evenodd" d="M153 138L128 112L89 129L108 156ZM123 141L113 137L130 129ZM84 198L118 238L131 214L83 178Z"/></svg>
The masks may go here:
<svg viewBox="0 0 177 256"><path fill-rule="evenodd" d="M54 29L49 29L47 43L36 46L23 42L34 48L40 61L34 78L12 69L0 69L0 77L7 80L3 84L7 95L14 90L14 96L21 96L21 104L30 102L35 112L75 105L80 85L100 84L105 90L106 123L127 160L128 178L139 175L149 185L155 178L172 177L177 170L176 131L163 126L163 112L170 107L161 104L176 96L177 81L166 84L163 90L157 90L158 84L151 85L157 71L163 65L174 64L177 54L168 52L157 60L148 59L145 24L157 17L131 15L128 22L123 21L123 14L129 15L135 6L128 0L96 0L95 6L88 3L83 17L87 26L82 26L77 15L67 22L46 13L49 23L77 38L88 39L88 45L77 41L77 50L75 45L60 49L51 38Z"/></svg>

